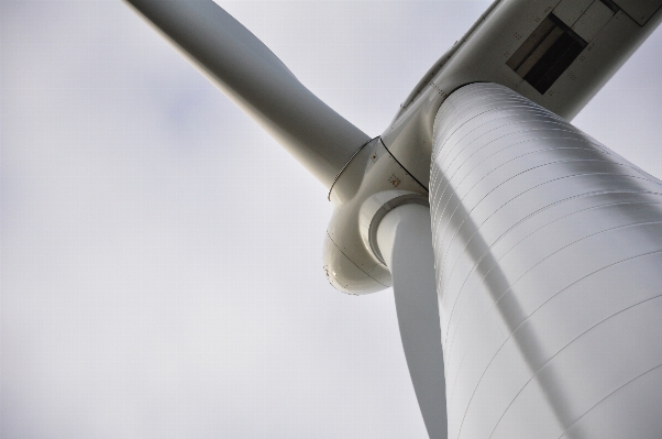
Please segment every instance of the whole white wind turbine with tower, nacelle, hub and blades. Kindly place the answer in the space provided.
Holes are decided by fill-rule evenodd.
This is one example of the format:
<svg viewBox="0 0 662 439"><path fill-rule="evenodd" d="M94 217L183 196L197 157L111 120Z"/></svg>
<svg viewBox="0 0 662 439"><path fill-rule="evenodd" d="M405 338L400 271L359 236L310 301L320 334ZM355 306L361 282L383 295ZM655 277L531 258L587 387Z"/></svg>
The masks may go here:
<svg viewBox="0 0 662 439"><path fill-rule="evenodd" d="M659 436L661 183L566 120L661 2L497 0L372 140L214 3L130 2L329 188L324 273L394 286L431 437Z"/></svg>

